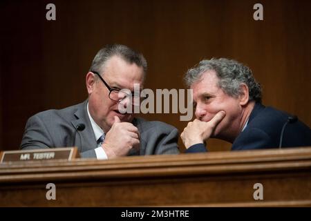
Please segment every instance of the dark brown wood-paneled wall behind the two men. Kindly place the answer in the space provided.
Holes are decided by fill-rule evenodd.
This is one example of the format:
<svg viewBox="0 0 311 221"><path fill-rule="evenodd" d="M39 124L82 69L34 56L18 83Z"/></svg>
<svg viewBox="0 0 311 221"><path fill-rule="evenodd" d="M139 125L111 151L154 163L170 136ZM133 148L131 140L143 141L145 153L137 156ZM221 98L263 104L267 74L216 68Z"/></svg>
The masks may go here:
<svg viewBox="0 0 311 221"><path fill-rule="evenodd" d="M84 77L104 44L126 44L149 62L145 88L184 88L182 75L200 59L247 64L263 86L263 103L311 126L311 1L48 1L0 3L0 149L16 149L31 115L87 97ZM179 115L144 116L173 124ZM181 143L180 143L181 144ZM209 142L212 149L229 144ZM183 147L182 147L183 148Z"/></svg>

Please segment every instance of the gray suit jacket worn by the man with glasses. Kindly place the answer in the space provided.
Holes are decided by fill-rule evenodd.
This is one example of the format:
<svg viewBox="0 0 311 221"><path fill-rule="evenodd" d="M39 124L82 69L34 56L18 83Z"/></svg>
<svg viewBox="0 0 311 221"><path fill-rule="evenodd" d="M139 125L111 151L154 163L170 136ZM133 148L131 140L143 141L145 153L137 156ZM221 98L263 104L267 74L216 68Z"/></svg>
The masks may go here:
<svg viewBox="0 0 311 221"><path fill-rule="evenodd" d="M77 146L82 157L96 157L97 147L93 128L86 110L87 100L62 110L48 110L28 119L21 140L21 148L54 148ZM134 118L133 125L140 131L140 151L129 155L156 155L179 153L178 130L163 122L147 122ZM85 124L84 131L77 131L77 124ZM120 139L122 139L120 137Z"/></svg>

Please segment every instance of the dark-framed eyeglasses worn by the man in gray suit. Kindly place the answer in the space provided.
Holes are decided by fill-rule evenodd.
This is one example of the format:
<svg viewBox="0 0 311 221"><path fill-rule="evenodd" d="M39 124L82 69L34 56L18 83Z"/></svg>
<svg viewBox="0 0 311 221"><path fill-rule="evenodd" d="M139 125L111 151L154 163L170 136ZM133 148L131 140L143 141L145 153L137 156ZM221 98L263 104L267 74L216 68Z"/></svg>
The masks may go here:
<svg viewBox="0 0 311 221"><path fill-rule="evenodd" d="M91 71L92 73L94 73L95 75L97 75L98 77L100 77L100 80L102 81L102 83L104 83L104 85L106 86L106 88L108 88L109 90L109 98L111 100L113 100L114 102L122 102L124 99L126 99L127 97L129 97L131 104L135 105L135 106L139 106L140 102L142 102L143 99L146 99L147 97L140 97L140 95L133 95L131 93L131 91L129 91L129 89L117 89L117 88L111 88L106 81L102 78L102 76L100 76L99 73L97 73L96 71ZM126 91L125 91L126 90ZM128 92L129 91L129 92Z"/></svg>

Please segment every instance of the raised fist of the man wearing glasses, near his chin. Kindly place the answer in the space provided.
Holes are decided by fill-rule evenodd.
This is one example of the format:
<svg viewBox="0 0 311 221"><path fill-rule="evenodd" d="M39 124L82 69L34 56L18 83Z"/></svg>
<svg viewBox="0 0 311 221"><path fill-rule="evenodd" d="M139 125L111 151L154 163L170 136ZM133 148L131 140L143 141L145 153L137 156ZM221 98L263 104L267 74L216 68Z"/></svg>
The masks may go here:
<svg viewBox="0 0 311 221"><path fill-rule="evenodd" d="M106 133L102 148L109 159L125 156L132 148L140 148L140 133L138 128L129 122L120 122L115 116L115 122Z"/></svg>

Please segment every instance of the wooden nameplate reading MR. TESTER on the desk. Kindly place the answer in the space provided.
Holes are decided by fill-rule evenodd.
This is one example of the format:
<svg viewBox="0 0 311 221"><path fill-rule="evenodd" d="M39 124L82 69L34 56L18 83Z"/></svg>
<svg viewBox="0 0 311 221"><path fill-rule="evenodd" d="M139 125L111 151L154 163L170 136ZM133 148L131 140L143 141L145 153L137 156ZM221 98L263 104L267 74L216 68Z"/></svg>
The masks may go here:
<svg viewBox="0 0 311 221"><path fill-rule="evenodd" d="M2 162L12 161L33 161L33 160L73 160L79 157L76 147L47 148L26 151L3 151L1 154Z"/></svg>

